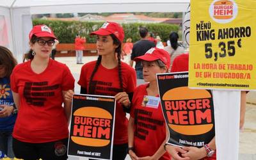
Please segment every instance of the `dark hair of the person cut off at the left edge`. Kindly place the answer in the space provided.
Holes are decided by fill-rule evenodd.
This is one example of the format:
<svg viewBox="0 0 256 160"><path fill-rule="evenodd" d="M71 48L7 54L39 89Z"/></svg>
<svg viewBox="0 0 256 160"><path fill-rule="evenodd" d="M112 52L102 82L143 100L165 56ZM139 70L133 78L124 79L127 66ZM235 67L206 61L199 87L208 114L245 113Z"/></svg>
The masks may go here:
<svg viewBox="0 0 256 160"><path fill-rule="evenodd" d="M12 52L3 46L0 46L0 65L4 66L5 77L10 78L12 70L17 65L17 61L13 57Z"/></svg>

